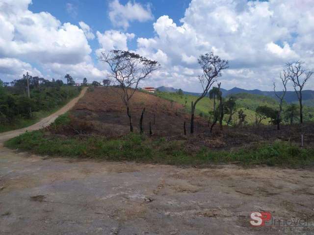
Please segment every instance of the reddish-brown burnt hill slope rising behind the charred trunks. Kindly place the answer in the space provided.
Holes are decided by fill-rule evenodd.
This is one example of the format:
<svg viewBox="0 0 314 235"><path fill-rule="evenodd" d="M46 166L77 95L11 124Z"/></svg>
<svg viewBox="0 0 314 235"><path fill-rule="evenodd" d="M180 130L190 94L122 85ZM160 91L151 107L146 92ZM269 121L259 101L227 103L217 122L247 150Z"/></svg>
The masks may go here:
<svg viewBox="0 0 314 235"><path fill-rule="evenodd" d="M88 92L71 112L79 122L84 119L91 128L88 133L98 133L107 137L119 137L130 132L129 118L117 88L96 88ZM183 134L183 123L188 123L188 115L183 105L171 103L154 95L136 92L131 99L131 115L135 131L139 132L139 119L144 113L144 130L149 133L149 122L155 136ZM201 124L206 125L206 121Z"/></svg>

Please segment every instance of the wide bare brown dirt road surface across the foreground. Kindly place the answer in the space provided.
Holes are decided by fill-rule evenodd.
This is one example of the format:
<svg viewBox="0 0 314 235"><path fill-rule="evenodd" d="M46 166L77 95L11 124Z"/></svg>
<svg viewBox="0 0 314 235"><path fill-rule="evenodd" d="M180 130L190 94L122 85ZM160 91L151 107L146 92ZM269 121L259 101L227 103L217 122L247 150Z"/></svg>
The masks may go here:
<svg viewBox="0 0 314 235"><path fill-rule="evenodd" d="M251 227L249 215L314 226L313 182L313 169L78 161L0 147L0 235L310 235L313 227Z"/></svg>

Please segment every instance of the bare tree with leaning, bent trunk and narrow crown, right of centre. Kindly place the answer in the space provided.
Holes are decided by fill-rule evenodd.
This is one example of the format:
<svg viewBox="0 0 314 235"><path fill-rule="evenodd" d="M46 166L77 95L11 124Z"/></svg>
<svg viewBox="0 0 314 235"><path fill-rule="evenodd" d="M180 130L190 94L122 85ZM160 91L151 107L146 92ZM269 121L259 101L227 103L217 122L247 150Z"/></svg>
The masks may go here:
<svg viewBox="0 0 314 235"><path fill-rule="evenodd" d="M198 77L203 88L203 93L195 100L191 108L191 134L194 133L194 114L197 102L208 94L210 87L216 81L216 78L221 76L221 71L228 68L228 61L220 59L219 56L214 55L213 52L201 55L198 59L198 63L204 73Z"/></svg>

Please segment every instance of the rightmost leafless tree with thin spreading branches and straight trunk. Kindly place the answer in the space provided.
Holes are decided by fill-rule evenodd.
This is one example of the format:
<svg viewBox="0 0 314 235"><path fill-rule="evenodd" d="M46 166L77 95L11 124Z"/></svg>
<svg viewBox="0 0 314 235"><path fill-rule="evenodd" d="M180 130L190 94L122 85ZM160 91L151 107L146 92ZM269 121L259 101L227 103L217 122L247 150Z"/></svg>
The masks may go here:
<svg viewBox="0 0 314 235"><path fill-rule="evenodd" d="M306 82L310 79L313 71L308 71L302 68L304 62L296 61L294 63L287 63L287 71L289 79L293 82L294 91L298 97L300 105L300 124L303 123L303 105L302 105L302 90ZM298 88L298 90L297 90Z"/></svg>

